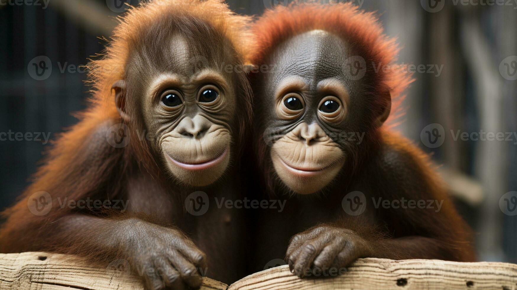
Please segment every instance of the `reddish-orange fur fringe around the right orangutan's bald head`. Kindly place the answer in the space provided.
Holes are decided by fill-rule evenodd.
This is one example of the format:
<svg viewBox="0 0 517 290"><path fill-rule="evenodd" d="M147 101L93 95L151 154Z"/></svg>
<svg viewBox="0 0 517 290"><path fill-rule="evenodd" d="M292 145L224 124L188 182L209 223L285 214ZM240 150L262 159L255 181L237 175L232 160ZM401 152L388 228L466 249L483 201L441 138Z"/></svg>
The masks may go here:
<svg viewBox="0 0 517 290"><path fill-rule="evenodd" d="M361 11L351 3L308 3L279 6L265 12L252 26L254 50L249 52L247 61L259 66L265 64L267 55L283 40L311 30L328 31L354 44L367 65L393 65L399 52L396 39L383 34L383 27L373 12ZM389 91L392 106L397 108L403 99L401 94L412 82L410 75L402 70L380 69L375 72L372 67L369 70L375 79L375 88L371 93L383 96Z"/></svg>

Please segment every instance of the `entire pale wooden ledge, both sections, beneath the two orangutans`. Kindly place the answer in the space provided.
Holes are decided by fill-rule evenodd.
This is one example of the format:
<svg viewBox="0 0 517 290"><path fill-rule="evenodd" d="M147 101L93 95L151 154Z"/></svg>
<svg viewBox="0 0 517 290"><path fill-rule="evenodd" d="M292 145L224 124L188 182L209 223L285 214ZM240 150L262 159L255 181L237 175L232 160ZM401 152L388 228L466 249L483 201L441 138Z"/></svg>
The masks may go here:
<svg viewBox="0 0 517 290"><path fill-rule="evenodd" d="M121 260L124 261L124 260ZM3 289L144 289L124 263L99 268L75 256L27 252L0 254ZM229 269L231 271L231 269ZM227 285L205 278L203 290ZM442 260L359 259L345 274L328 279L299 279L287 266L254 273L228 290L249 289L517 289L517 265L457 263Z"/></svg>

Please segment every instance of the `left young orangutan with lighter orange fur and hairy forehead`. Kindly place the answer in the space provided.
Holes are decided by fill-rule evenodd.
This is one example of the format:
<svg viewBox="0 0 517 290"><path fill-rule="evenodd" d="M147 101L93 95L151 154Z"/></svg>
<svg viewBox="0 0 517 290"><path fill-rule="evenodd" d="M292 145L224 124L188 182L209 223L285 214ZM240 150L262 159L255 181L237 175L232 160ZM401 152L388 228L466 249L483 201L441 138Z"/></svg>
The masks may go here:
<svg viewBox="0 0 517 290"><path fill-rule="evenodd" d="M89 65L91 105L4 212L0 252L124 259L149 289L243 277L239 213L212 203L190 214L186 197L241 192L232 164L251 112L240 48L248 23L222 0L130 9Z"/></svg>

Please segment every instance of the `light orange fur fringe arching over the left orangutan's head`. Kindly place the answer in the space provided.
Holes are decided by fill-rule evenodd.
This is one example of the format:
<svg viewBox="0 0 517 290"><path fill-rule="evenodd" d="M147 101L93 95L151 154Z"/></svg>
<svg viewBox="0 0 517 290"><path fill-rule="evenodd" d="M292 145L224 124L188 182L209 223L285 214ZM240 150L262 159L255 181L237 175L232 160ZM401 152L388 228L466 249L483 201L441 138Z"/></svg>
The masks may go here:
<svg viewBox="0 0 517 290"><path fill-rule="evenodd" d="M113 32L112 41L106 48L104 57L88 64L90 83L93 85L93 100L99 105L114 109L111 86L124 78L124 68L131 48L138 38L157 19L172 16L192 16L211 24L233 47L244 55L242 41L249 39L247 25L250 18L231 12L222 0L155 0L143 2L137 8L129 9ZM109 95L110 98L106 98Z"/></svg>

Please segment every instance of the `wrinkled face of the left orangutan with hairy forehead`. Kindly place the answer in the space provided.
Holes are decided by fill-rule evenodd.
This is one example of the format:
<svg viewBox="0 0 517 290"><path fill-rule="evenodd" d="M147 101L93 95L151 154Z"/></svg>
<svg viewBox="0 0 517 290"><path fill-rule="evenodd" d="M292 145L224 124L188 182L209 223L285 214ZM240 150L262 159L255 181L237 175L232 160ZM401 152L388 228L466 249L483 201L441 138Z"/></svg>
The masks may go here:
<svg viewBox="0 0 517 290"><path fill-rule="evenodd" d="M195 67L192 59L200 56L181 35L169 47L167 62L135 54L124 83L129 97L140 99L150 147L166 171L181 185L206 186L222 176L232 155L235 80L213 66Z"/></svg>

